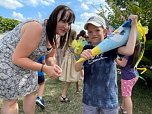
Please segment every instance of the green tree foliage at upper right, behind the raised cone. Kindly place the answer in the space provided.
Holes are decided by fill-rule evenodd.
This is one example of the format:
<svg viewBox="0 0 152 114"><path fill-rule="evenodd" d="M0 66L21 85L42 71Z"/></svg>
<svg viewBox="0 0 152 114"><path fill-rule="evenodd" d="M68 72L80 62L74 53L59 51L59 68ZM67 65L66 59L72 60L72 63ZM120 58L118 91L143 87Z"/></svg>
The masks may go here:
<svg viewBox="0 0 152 114"><path fill-rule="evenodd" d="M107 20L113 27L120 26L130 14L138 15L143 26L148 26L146 35L146 50L143 57L145 64L152 65L152 0L106 0L112 13L108 13ZM101 6L99 15L105 17L109 11Z"/></svg>

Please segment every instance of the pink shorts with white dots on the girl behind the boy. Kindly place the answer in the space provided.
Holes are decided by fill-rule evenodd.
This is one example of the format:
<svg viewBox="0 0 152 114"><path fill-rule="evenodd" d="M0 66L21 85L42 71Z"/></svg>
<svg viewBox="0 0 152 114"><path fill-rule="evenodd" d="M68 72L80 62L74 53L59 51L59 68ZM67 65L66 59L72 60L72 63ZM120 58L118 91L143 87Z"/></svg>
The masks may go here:
<svg viewBox="0 0 152 114"><path fill-rule="evenodd" d="M131 80L123 80L121 79L121 94L124 97L131 96L132 88L137 82L138 77L135 77Z"/></svg>

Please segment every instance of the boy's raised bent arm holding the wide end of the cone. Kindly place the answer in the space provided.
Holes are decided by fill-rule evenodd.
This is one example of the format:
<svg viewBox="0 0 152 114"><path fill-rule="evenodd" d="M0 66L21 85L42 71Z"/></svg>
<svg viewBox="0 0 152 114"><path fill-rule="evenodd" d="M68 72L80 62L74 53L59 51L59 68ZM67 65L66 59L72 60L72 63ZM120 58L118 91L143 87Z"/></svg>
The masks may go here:
<svg viewBox="0 0 152 114"><path fill-rule="evenodd" d="M118 48L118 53L122 55L132 55L134 52L135 44L136 44L136 37L137 37L137 15L130 15L129 19L132 20L131 22L131 30L128 42L125 46Z"/></svg>

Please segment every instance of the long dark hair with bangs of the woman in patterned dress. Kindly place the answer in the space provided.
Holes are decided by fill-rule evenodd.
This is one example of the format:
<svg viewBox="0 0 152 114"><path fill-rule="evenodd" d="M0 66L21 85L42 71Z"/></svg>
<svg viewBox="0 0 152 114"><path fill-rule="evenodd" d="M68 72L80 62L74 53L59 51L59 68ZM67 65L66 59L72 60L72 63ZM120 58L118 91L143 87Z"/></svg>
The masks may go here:
<svg viewBox="0 0 152 114"><path fill-rule="evenodd" d="M66 21L69 24L74 23L75 21L75 14L68 6L59 5L53 10L53 12L49 16L49 19L47 20L47 23L46 23L46 35L53 48L56 47L56 25L58 21L58 14L60 11L62 11L62 13L61 13L61 17L59 21L65 18L65 15L67 12L69 12L69 15ZM60 37L60 48L64 46L66 37L67 36L69 37L70 31L71 31L71 28L68 33Z"/></svg>

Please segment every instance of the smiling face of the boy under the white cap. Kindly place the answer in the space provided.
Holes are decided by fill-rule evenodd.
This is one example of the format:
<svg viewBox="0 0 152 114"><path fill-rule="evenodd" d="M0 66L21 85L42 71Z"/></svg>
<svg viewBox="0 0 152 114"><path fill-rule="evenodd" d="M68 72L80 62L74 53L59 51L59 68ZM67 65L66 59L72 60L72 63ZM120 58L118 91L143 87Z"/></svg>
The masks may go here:
<svg viewBox="0 0 152 114"><path fill-rule="evenodd" d="M92 24L88 25L88 37L92 45L96 46L105 38L105 30L102 27L96 27Z"/></svg>

